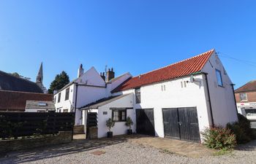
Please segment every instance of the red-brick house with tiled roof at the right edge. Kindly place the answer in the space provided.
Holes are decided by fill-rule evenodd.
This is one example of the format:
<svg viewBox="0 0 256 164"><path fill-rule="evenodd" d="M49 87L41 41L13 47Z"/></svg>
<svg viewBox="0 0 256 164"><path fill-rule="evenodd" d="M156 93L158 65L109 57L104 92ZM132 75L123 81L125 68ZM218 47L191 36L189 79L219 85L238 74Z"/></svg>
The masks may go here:
<svg viewBox="0 0 256 164"><path fill-rule="evenodd" d="M235 90L238 112L252 122L256 128L256 80L246 83Z"/></svg>

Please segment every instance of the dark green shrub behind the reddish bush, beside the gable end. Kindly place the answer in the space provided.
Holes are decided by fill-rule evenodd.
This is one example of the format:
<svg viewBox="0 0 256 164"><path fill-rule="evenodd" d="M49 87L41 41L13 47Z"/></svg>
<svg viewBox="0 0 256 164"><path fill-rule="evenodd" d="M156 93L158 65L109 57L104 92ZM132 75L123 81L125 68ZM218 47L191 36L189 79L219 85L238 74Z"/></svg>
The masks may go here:
<svg viewBox="0 0 256 164"><path fill-rule="evenodd" d="M242 114L238 114L238 122L228 123L227 128L236 134L238 144L246 144L254 138L251 123Z"/></svg>

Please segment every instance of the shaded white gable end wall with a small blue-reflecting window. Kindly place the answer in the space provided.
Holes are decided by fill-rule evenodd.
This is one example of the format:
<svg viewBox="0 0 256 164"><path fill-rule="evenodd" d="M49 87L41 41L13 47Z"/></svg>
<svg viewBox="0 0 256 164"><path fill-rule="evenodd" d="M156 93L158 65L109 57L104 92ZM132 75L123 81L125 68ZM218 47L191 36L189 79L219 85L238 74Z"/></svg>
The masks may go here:
<svg viewBox="0 0 256 164"><path fill-rule="evenodd" d="M223 87L217 85L216 69L221 71ZM211 106L215 125L226 126L227 122L236 122L238 120L236 112L236 101L233 94L233 83L222 65L221 60L216 54L203 67L203 72L208 75L208 87L211 96Z"/></svg>

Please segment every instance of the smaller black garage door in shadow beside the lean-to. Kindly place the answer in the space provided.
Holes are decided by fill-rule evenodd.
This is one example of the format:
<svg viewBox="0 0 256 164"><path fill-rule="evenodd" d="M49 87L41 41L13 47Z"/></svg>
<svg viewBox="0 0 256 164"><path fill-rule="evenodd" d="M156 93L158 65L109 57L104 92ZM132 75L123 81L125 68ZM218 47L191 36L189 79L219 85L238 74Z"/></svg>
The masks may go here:
<svg viewBox="0 0 256 164"><path fill-rule="evenodd" d="M154 136L154 109L136 109L136 131Z"/></svg>

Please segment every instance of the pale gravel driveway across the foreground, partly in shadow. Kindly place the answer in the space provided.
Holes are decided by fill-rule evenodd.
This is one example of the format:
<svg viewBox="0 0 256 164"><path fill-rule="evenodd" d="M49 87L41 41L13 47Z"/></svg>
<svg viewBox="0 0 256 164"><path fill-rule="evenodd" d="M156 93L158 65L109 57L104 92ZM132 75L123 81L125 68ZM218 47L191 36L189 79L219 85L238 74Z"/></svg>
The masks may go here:
<svg viewBox="0 0 256 164"><path fill-rule="evenodd" d="M102 155L93 155L93 152ZM97 153L96 153L97 154ZM0 163L256 163L256 141L225 156L185 157L128 139L77 140L54 147L11 152Z"/></svg>

